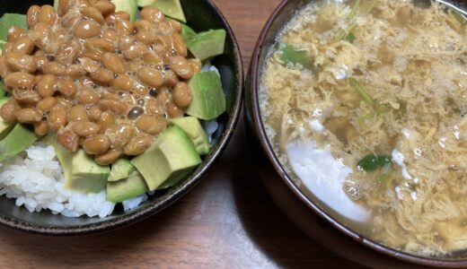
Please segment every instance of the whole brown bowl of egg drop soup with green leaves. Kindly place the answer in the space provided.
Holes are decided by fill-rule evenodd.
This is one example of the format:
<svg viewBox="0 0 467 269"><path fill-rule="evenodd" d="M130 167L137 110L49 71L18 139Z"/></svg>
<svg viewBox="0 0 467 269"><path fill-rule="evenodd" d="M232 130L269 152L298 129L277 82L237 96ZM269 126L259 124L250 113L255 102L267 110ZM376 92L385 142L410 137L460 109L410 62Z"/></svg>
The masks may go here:
<svg viewBox="0 0 467 269"><path fill-rule="evenodd" d="M247 81L252 134L289 193L422 265L467 265L463 7L285 1Z"/></svg>

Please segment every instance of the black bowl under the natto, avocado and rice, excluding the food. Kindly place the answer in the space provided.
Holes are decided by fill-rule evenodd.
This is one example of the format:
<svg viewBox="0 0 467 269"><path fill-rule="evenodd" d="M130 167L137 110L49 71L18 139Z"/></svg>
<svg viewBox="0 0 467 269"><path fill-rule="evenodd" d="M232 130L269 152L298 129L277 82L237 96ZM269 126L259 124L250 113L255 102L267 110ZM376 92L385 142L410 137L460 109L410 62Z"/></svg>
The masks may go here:
<svg viewBox="0 0 467 269"><path fill-rule="evenodd" d="M4 13L26 13L31 4L53 4L53 0L0 0L0 16ZM207 169L215 163L234 132L242 108L242 58L234 32L215 4L209 0L181 0L181 5L188 25L194 30L225 29L227 31L225 53L216 56L213 61L213 65L216 65L221 74L227 112L217 119L220 127L214 134L215 144L198 169L178 186L156 193L136 209L125 213L121 208L116 208L112 215L104 219L66 218L49 212L30 213L24 207L15 206L13 200L3 196L0 197L1 224L17 230L57 236L114 230L163 210L194 187Z"/></svg>

